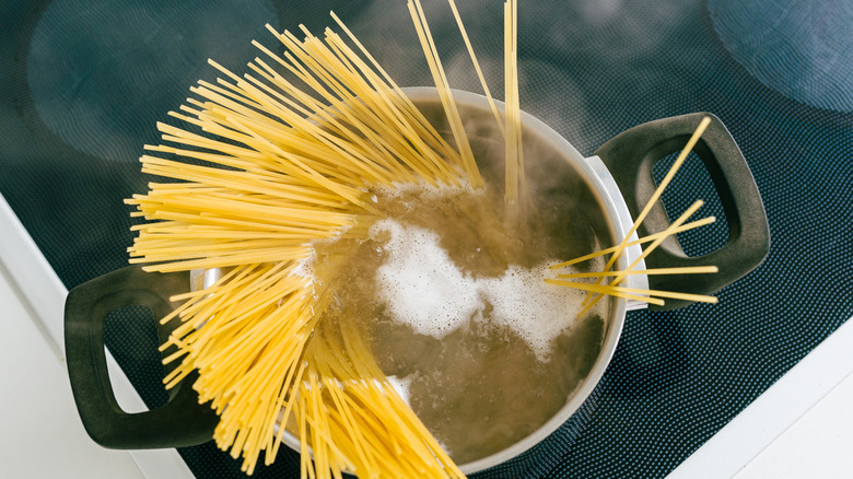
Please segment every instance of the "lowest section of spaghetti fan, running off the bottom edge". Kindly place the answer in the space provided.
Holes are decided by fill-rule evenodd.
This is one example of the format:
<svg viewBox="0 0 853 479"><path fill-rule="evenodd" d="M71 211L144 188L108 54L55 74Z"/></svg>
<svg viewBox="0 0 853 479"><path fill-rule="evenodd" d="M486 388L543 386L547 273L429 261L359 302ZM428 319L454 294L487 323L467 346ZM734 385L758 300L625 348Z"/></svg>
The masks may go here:
<svg viewBox="0 0 853 479"><path fill-rule="evenodd" d="M464 477L385 377L349 322L324 322L293 404L303 477ZM309 459L311 448L314 460Z"/></svg>

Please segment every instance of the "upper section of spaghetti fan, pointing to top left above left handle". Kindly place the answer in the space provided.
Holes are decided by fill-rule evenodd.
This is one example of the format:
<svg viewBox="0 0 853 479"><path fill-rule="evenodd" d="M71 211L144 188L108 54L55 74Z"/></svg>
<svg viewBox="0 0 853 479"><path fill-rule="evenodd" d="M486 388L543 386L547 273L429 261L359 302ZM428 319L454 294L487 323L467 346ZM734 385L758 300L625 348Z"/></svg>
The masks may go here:
<svg viewBox="0 0 853 479"><path fill-rule="evenodd" d="M144 173L187 183L152 183L148 195L127 200L138 207L135 215L153 221L133 226L133 261L172 260L147 270L242 265L246 252L280 260L282 246L340 234L375 214L369 185L459 183L459 154L340 37L327 31L324 44L309 34L305 42L277 35L287 61L260 48L325 102L261 59L249 66L269 83L213 63L233 82L200 82L192 91L207 101L189 98L198 108L180 109L191 116L171 114L205 135L160 124L163 139L184 148L145 148L179 160L141 159ZM198 237L217 247L192 248Z"/></svg>

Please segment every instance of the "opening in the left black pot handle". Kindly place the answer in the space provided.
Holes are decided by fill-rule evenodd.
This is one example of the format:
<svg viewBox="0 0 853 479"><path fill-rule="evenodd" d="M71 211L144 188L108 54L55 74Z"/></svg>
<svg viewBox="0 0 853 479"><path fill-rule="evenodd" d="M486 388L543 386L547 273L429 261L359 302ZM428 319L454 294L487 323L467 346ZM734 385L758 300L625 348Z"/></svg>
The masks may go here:
<svg viewBox="0 0 853 479"><path fill-rule="evenodd" d="M166 404L168 395L163 386L166 374L157 351L160 339L154 313L148 306L126 306L109 312L104 318L104 346L149 409ZM117 400L125 412L139 412L122 405L120 398Z"/></svg>

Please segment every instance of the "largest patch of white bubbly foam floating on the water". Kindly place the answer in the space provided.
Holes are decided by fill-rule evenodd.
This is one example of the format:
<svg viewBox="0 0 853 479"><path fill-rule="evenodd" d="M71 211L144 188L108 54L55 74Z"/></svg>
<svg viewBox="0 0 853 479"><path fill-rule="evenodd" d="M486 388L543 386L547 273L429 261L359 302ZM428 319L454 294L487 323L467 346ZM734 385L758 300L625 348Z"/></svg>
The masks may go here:
<svg viewBox="0 0 853 479"><path fill-rule="evenodd" d="M570 328L580 312L582 292L542 281L554 277L548 265L557 260L534 269L511 266L502 277L475 279L453 262L436 233L382 220L371 236L383 232L389 240L387 260L376 273L378 297L395 320L417 332L441 339L468 319L482 320L488 303L494 323L511 328L546 360L552 339Z"/></svg>

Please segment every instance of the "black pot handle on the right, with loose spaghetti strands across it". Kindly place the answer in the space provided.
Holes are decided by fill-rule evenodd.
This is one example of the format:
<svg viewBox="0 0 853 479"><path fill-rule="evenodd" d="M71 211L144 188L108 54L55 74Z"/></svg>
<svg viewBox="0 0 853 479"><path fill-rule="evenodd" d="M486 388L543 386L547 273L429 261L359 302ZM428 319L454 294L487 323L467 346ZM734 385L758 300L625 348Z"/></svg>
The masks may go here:
<svg viewBox="0 0 853 479"><path fill-rule="evenodd" d="M745 277L764 260L770 249L770 227L764 205L752 173L734 138L720 119L708 113L664 118L626 130L603 144L595 154L607 165L633 218L636 218L657 185L652 176L654 164L680 151L704 117L711 124L693 151L704 163L723 203L728 223L728 241L721 248L700 257L687 256L675 236L667 238L645 259L650 268L715 265L715 274L650 276L652 289L696 294L711 294ZM669 220L659 200L638 229L640 237L664 231ZM675 309L688 301L666 300Z"/></svg>

